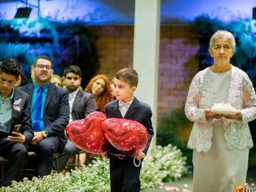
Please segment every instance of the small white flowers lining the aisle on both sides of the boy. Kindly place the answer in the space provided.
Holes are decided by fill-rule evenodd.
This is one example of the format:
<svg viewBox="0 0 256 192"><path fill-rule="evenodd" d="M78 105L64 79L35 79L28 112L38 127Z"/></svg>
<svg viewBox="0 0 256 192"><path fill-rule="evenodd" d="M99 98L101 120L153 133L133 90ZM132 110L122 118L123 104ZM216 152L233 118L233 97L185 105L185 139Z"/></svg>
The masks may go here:
<svg viewBox="0 0 256 192"><path fill-rule="evenodd" d="M188 173L186 157L176 146L155 146L142 163L140 173L141 190L149 190L162 182L178 178ZM0 192L110 192L109 160L96 159L81 170L72 170L65 175L52 172L43 178L24 178L22 182L12 182L11 186L0 188Z"/></svg>

